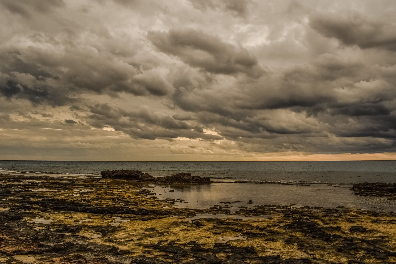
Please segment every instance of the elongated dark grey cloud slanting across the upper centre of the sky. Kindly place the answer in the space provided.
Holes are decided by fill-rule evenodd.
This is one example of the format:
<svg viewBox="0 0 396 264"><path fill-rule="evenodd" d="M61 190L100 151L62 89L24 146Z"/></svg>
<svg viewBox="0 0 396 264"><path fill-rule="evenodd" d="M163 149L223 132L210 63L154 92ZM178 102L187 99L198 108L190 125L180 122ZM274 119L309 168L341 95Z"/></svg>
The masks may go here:
<svg viewBox="0 0 396 264"><path fill-rule="evenodd" d="M257 59L242 47L235 47L194 29L149 31L148 39L160 51L174 55L192 67L210 73L233 75L246 73L257 77L263 73Z"/></svg>

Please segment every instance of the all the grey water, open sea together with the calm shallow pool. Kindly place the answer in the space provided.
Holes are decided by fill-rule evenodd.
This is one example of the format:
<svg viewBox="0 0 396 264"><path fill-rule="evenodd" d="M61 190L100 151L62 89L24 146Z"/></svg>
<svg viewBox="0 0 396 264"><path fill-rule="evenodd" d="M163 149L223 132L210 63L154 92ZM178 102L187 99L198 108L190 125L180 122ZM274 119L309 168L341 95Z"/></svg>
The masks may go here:
<svg viewBox="0 0 396 264"><path fill-rule="evenodd" d="M180 199L178 207L264 204L396 211L396 200L355 195L352 184L396 183L396 161L0 161L1 174L100 178L102 170L141 170L152 176L190 172L213 184L159 186L158 199Z"/></svg>

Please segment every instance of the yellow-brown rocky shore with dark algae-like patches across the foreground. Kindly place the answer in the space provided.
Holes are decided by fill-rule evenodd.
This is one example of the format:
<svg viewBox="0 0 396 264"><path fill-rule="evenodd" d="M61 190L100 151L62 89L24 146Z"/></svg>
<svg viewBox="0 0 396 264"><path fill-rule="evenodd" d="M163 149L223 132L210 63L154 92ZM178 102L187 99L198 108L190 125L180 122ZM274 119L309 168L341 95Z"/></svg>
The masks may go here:
<svg viewBox="0 0 396 264"><path fill-rule="evenodd" d="M230 212L227 203L181 209L149 189L110 178L1 175L0 263L396 262L393 212L292 205Z"/></svg>

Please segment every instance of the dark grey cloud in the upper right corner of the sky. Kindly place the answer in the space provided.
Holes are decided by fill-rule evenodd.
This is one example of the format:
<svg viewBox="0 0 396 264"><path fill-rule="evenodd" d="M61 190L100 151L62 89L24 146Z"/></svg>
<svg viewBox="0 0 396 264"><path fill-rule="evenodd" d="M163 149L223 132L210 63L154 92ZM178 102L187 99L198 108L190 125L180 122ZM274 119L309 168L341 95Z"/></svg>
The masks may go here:
<svg viewBox="0 0 396 264"><path fill-rule="evenodd" d="M372 21L367 15L357 12L315 14L310 18L310 26L323 36L337 38L345 45L396 51L394 23Z"/></svg>

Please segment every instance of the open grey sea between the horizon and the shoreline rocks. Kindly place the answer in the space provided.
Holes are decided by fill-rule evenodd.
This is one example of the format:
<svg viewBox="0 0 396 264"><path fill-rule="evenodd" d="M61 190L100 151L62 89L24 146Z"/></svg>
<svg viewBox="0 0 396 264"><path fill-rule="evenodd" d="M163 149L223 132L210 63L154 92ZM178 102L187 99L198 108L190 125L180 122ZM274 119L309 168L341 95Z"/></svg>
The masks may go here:
<svg viewBox="0 0 396 264"><path fill-rule="evenodd" d="M396 161L0 161L0 173L100 177L102 170L141 170L152 176L190 172L217 182L354 184L396 182Z"/></svg>

